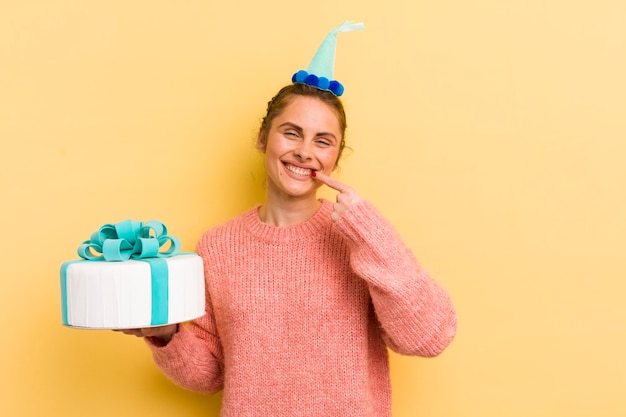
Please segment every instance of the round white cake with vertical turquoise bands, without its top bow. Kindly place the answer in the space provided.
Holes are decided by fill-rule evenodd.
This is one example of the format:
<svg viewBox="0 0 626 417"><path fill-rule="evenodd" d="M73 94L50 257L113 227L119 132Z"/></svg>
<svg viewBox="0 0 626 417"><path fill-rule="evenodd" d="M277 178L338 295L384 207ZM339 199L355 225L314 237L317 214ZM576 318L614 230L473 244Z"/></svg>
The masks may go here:
<svg viewBox="0 0 626 417"><path fill-rule="evenodd" d="M180 323L205 314L204 269L194 253L61 266L63 324L129 329Z"/></svg>

